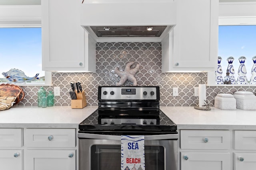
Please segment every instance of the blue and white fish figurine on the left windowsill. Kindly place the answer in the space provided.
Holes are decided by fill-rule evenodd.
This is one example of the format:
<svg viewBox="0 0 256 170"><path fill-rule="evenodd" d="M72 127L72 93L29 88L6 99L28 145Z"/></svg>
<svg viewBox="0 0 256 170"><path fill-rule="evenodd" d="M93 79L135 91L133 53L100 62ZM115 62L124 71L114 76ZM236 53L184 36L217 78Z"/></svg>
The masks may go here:
<svg viewBox="0 0 256 170"><path fill-rule="evenodd" d="M32 79L39 80L39 78L37 77L39 75L39 73L37 73L36 76L34 76L34 77L28 77L25 75L25 73L22 70L18 70L15 68L10 69L8 72L2 72L2 74L10 82L25 82L25 81L32 80Z"/></svg>

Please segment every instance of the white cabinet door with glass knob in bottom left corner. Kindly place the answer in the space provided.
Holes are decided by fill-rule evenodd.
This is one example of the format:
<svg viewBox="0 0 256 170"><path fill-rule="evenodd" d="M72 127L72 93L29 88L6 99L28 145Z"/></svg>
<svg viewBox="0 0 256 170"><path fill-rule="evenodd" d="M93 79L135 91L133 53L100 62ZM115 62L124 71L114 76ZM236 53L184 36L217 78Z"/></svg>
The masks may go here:
<svg viewBox="0 0 256 170"><path fill-rule="evenodd" d="M23 170L23 150L0 150L0 170Z"/></svg>

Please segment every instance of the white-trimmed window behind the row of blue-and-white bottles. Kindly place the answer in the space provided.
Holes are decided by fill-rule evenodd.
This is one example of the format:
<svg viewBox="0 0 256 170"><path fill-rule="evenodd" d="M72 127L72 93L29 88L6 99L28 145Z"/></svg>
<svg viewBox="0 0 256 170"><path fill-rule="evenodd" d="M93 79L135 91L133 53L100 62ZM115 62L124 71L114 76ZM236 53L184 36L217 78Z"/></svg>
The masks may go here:
<svg viewBox="0 0 256 170"><path fill-rule="evenodd" d="M219 44L218 56L222 57L222 77L226 76L228 57L234 57L234 77L238 77L240 62L238 58L246 57L245 66L247 80L250 81L252 69L252 57L256 56L256 2L220 2L219 3ZM216 56L217 66L217 56ZM216 86L214 71L208 72L208 86ZM217 85L217 86L226 86ZM229 86L241 86L231 84ZM254 84L242 86L255 86Z"/></svg>

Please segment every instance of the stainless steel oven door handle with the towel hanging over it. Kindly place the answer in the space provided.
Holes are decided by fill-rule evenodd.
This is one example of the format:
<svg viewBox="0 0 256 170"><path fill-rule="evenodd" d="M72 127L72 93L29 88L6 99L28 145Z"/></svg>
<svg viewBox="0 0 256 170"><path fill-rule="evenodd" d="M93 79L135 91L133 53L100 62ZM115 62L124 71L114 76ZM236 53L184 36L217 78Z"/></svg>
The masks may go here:
<svg viewBox="0 0 256 170"><path fill-rule="evenodd" d="M116 140L120 141L121 136L115 135L98 135L98 134L91 134L91 133L78 133L78 138L84 139L106 139L106 140ZM132 136L132 135L131 135ZM178 140L178 134L166 134L166 135L146 135L144 136L145 141L149 140Z"/></svg>

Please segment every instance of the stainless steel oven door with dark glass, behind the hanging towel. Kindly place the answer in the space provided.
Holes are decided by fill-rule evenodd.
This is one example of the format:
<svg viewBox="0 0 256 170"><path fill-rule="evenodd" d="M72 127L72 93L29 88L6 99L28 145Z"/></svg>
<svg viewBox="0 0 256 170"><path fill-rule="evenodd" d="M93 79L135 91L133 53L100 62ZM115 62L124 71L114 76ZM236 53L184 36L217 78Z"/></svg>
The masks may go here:
<svg viewBox="0 0 256 170"><path fill-rule="evenodd" d="M78 137L79 170L120 170L120 136L78 133ZM177 170L178 134L145 136L144 139L146 170Z"/></svg>

